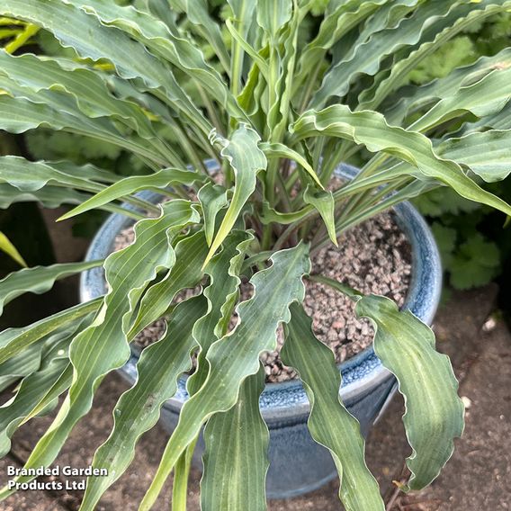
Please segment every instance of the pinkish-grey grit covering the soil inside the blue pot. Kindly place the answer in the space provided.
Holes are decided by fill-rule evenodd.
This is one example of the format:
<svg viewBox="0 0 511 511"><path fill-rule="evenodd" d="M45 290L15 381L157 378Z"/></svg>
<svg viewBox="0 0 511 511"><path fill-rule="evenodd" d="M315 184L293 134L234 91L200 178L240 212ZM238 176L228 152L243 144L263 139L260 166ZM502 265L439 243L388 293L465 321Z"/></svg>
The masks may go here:
<svg viewBox="0 0 511 511"><path fill-rule="evenodd" d="M115 239L115 250L130 245L133 229L123 230ZM363 291L381 294L402 306L408 291L411 273L411 251L408 240L393 220L392 213L382 213L363 224L348 230L338 238L339 247L333 245L318 251L312 258L312 273L327 277ZM306 281L304 302L312 318L313 330L336 355L336 363L343 362L371 345L373 329L366 319L357 319L354 304L343 294L318 282ZM181 293L177 300L195 294L194 290ZM247 300L252 286L241 285L240 300ZM231 321L231 328L237 318ZM159 320L142 331L136 338L141 347L157 341L165 329ZM282 364L282 328L278 332L278 347L273 353L262 356L267 382L280 382L296 378L291 368Z"/></svg>

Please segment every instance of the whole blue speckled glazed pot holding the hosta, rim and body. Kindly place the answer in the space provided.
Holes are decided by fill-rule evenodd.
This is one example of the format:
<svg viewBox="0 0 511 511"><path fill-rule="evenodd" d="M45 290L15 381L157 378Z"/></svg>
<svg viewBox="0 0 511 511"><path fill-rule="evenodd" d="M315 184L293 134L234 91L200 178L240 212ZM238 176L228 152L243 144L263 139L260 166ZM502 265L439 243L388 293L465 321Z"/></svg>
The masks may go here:
<svg viewBox="0 0 511 511"><path fill-rule="evenodd" d="M356 168L343 165L336 170L336 175L352 178L356 172ZM145 194L145 198L157 202L154 193ZM412 275L404 308L431 324L442 287L438 249L426 221L408 202L399 204L394 211L399 227L412 248ZM94 237L86 259L99 259L111 253L116 235L132 222L119 214L112 215ZM83 273L80 282L82 301L101 296L104 292L101 268ZM133 346L130 360L121 368L121 374L131 384L136 379L138 360L139 349ZM341 398L359 420L363 435L367 435L397 390L396 381L381 365L372 347L346 360L339 369L343 378ZM175 397L166 401L162 408L161 424L169 433L174 430L179 410L186 399L188 394L183 378L179 381ZM300 381L267 384L260 407L270 430L270 469L266 479L269 498L298 496L318 489L336 477L330 454L309 435L309 400ZM202 450L201 439L195 452L197 463L201 463Z"/></svg>

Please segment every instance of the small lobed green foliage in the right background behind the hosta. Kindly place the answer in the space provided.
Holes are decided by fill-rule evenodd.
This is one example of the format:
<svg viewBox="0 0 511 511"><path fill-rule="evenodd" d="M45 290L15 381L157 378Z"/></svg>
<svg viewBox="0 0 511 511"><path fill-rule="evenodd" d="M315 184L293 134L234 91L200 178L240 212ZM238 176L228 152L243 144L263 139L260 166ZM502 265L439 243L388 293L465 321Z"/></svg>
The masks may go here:
<svg viewBox="0 0 511 511"><path fill-rule="evenodd" d="M483 55L495 55L510 42L511 13L498 14L487 22L474 25L426 58L410 73L410 81L426 84ZM510 179L498 185L487 184L486 188L507 202L511 200ZM448 282L453 288L479 287L506 275L506 269L511 265L509 229L502 229L502 220L494 211L467 201L447 188L426 193L414 202L430 222Z"/></svg>

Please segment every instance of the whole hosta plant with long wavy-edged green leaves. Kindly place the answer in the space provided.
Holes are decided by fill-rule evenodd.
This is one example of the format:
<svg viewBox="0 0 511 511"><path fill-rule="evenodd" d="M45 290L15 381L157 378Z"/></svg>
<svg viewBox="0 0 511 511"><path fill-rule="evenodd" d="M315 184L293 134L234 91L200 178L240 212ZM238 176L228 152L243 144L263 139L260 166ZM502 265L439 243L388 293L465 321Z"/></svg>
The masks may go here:
<svg viewBox="0 0 511 511"><path fill-rule="evenodd" d="M404 86L446 41L511 1L332 0L303 40L309 31L300 28L315 4L229 0L225 27L204 0L0 4L1 16L49 31L76 53L0 52L0 129L69 131L128 150L148 169L121 179L90 165L0 158L4 207L73 204L66 218L97 208L137 220L133 244L104 261L23 269L0 282L2 306L98 265L108 282L103 298L0 335L3 384L17 381L0 408L3 453L18 426L61 397L26 468L52 463L86 420L104 376L128 360L130 342L167 318L166 334L144 350L138 380L113 411L112 432L94 456L108 476L88 481L82 509L93 509L130 465L192 354L191 399L140 509L153 506L171 472L173 508L185 508L203 426L202 508L264 509L268 430L258 408L259 357L275 348L282 324L282 360L308 392L310 433L332 454L345 508L383 509L358 424L338 398L334 356L303 309L303 279L347 294L375 326L375 352L406 399L412 454L404 491L434 480L462 434L453 370L429 327L389 299L310 275L310 257L346 229L438 186L511 213L478 184L503 178L511 164L511 49L430 84ZM200 102L190 99L191 88ZM158 137L162 125L172 142ZM355 156L365 162L361 172L328 191L338 163ZM219 163L218 175L208 174L206 158ZM142 190L168 200L156 206L137 195ZM237 305L243 277L255 292ZM198 284L201 293L175 305L179 291ZM238 325L226 334L235 307ZM223 456L220 438L233 457Z"/></svg>

